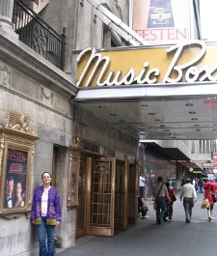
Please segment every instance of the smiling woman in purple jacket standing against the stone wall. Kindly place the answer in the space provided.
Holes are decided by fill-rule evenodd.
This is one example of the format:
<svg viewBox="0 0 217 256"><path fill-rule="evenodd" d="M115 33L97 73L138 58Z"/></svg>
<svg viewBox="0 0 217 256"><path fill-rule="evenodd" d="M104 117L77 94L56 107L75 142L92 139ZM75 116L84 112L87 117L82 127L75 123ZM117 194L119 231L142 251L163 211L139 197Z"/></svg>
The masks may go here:
<svg viewBox="0 0 217 256"><path fill-rule="evenodd" d="M51 186L51 175L41 174L42 184L33 195L31 220L36 224L40 243L40 256L53 256L55 252L55 226L61 221L61 202L58 190Z"/></svg>

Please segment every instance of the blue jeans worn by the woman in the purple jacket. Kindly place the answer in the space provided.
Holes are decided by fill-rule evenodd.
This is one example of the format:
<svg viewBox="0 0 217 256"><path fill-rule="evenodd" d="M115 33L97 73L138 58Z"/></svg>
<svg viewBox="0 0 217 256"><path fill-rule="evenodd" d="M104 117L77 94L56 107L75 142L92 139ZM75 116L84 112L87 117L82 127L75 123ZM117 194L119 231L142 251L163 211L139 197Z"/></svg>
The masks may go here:
<svg viewBox="0 0 217 256"><path fill-rule="evenodd" d="M54 231L55 226L46 224L46 217L41 217L41 225L37 226L37 234L40 242L40 256L54 256Z"/></svg>

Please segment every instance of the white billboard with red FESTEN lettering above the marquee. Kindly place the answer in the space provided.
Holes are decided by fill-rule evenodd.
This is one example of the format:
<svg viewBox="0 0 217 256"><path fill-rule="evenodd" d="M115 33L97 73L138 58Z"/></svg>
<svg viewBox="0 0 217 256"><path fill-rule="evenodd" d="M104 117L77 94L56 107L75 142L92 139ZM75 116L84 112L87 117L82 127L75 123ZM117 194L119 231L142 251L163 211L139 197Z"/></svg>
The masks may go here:
<svg viewBox="0 0 217 256"><path fill-rule="evenodd" d="M190 40L188 0L136 0L133 29L149 43L180 43Z"/></svg>

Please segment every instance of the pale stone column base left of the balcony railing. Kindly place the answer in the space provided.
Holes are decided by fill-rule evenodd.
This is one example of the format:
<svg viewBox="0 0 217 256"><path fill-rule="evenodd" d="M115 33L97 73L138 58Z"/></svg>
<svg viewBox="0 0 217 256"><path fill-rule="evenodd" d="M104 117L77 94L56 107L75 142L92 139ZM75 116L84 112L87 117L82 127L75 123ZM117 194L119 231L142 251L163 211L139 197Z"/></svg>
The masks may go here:
<svg viewBox="0 0 217 256"><path fill-rule="evenodd" d="M14 0L0 0L0 29L18 38L13 28Z"/></svg>

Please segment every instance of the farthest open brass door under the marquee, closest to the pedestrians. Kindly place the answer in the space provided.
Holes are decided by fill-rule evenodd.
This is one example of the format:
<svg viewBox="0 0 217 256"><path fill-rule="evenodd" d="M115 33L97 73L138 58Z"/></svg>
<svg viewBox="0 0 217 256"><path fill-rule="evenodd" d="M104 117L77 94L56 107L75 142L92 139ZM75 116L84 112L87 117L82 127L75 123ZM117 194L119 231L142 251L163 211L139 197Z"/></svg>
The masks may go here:
<svg viewBox="0 0 217 256"><path fill-rule="evenodd" d="M139 195L139 164L129 163L128 166L128 223L135 225L138 216Z"/></svg>

